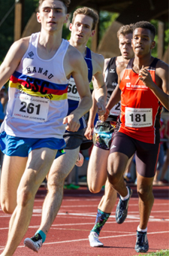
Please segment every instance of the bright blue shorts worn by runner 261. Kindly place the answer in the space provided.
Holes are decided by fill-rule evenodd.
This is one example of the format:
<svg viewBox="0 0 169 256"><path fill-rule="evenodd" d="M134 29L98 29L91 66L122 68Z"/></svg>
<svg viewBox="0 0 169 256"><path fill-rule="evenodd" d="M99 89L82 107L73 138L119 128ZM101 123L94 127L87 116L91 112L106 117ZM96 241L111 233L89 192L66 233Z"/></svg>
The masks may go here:
<svg viewBox="0 0 169 256"><path fill-rule="evenodd" d="M28 157L29 153L35 148L51 148L56 149L56 157L65 154L64 139L46 138L46 139L30 139L14 137L6 134L0 134L0 149L1 151L11 157Z"/></svg>

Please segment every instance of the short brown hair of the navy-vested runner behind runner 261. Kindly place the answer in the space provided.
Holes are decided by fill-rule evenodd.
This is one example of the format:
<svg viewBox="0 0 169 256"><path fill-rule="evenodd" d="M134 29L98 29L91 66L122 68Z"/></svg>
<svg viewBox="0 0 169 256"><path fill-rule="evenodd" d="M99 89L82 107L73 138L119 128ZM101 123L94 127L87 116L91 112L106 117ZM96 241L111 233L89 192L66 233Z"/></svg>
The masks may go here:
<svg viewBox="0 0 169 256"><path fill-rule="evenodd" d="M74 20L77 14L84 14L91 17L93 20L92 30L95 29L95 26L97 25L98 19L99 19L98 14L95 11L93 11L91 8L88 8L88 7L78 8L76 11L74 11L72 22L71 22L72 24L74 24Z"/></svg>

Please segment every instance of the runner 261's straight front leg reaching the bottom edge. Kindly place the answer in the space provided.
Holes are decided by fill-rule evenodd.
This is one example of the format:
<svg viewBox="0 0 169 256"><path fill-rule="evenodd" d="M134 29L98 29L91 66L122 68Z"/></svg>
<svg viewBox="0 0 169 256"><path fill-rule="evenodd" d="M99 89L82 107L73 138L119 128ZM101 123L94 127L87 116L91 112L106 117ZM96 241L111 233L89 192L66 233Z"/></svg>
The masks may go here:
<svg viewBox="0 0 169 256"><path fill-rule="evenodd" d="M38 148L29 154L26 171L23 173L18 187L17 207L11 216L8 241L5 250L1 254L2 256L13 255L26 234L32 218L35 194L47 172L49 172L55 156L56 151L50 148Z"/></svg>

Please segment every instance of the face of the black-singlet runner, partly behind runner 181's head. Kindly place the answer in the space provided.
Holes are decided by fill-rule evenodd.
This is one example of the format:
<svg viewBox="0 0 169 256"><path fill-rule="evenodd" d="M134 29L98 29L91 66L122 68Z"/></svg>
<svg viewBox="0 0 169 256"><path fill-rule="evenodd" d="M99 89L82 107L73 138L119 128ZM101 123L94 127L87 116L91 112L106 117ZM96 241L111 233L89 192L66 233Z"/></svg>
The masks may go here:
<svg viewBox="0 0 169 256"><path fill-rule="evenodd" d="M119 50L124 59L131 59L134 56L133 49L131 47L132 34L119 35Z"/></svg>

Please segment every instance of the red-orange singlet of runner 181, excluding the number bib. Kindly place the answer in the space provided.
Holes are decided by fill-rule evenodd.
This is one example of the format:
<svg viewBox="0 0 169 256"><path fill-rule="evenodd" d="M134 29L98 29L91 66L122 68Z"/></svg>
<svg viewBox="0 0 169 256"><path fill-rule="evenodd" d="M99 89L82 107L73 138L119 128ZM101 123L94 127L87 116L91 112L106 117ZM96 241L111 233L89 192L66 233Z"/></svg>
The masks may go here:
<svg viewBox="0 0 169 256"><path fill-rule="evenodd" d="M121 115L119 132L125 133L134 139L146 143L158 143L160 141L160 115L161 102L152 91L140 81L138 74L132 70L134 59L128 62L122 81L119 84L121 90ZM149 73L155 83L155 65L158 59L154 59L149 66ZM125 126L125 108L152 108L152 126L148 127L128 127Z"/></svg>

